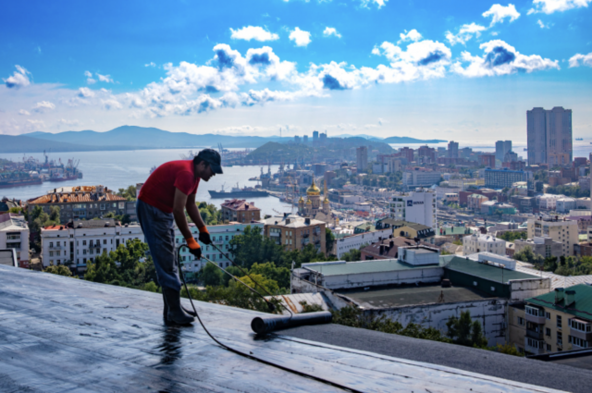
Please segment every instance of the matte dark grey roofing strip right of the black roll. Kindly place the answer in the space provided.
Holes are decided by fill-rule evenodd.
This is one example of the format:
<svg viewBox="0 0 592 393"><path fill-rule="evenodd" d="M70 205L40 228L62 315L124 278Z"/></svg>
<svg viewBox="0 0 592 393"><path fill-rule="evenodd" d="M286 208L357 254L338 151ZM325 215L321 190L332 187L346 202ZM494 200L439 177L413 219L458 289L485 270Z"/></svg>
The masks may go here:
<svg viewBox="0 0 592 393"><path fill-rule="evenodd" d="M477 348L413 339L381 331L328 324L295 327L281 331L281 335L310 340L320 345L370 350L401 361L427 362L510 379L516 383L536 384L574 393L589 393L592 386L592 373L588 370ZM474 386L472 389L480 390L480 387ZM394 390L394 386L391 386L390 391ZM451 391L455 391L455 388ZM414 392L425 392L425 390L418 389Z"/></svg>

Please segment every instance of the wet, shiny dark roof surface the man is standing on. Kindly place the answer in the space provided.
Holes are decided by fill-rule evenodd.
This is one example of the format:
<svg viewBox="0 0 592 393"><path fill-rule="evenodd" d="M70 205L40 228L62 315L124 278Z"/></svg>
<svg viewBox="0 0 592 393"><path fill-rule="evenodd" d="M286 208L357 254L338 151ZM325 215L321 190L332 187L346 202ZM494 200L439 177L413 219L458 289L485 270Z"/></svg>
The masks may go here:
<svg viewBox="0 0 592 393"><path fill-rule="evenodd" d="M352 391L550 391L293 337L261 339L250 322L265 314L204 302L196 307L205 326L227 346ZM198 323L165 326L162 295L152 292L0 266L0 315L1 391L343 392L223 349ZM429 352L437 356L439 349ZM557 374L568 385L590 381L589 373Z"/></svg>

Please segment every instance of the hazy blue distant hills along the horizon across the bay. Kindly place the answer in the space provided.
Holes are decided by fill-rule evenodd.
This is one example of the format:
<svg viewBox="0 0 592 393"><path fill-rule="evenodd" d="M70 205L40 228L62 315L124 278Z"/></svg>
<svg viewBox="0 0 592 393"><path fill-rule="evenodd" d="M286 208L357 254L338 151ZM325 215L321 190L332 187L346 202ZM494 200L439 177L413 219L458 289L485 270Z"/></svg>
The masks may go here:
<svg viewBox="0 0 592 393"><path fill-rule="evenodd" d="M123 125L99 133L92 130L65 131L63 133L29 133L21 136L0 135L0 153L37 153L51 149L52 152L95 152L101 150L188 149L198 147L258 148L266 143L285 144L293 137L227 136L217 134L172 133L153 127ZM376 138L368 136L330 137L332 144L349 141L348 146L369 143L440 143L445 140L421 140L410 137ZM388 145L387 145L388 146Z"/></svg>

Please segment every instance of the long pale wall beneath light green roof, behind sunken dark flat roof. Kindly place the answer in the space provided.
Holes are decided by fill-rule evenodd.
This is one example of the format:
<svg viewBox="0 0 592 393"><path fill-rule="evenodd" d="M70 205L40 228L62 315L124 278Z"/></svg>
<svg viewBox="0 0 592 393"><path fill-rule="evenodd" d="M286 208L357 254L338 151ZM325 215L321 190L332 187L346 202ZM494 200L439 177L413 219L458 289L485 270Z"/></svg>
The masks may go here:
<svg viewBox="0 0 592 393"><path fill-rule="evenodd" d="M395 270L392 272L355 273L324 277L323 286L329 289L363 288L388 284L414 284L416 282L440 282L444 268L439 266Z"/></svg>

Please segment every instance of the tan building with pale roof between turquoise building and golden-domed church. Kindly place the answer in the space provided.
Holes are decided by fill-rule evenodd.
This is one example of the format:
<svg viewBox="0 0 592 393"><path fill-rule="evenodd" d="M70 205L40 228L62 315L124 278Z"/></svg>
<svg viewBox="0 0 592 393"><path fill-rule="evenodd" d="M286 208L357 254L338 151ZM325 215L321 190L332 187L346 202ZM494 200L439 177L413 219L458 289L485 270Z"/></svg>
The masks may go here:
<svg viewBox="0 0 592 393"><path fill-rule="evenodd" d="M318 252L327 253L325 228L323 221L314 218L286 214L264 220L263 234L281 244L288 251L301 250L307 244L313 244Z"/></svg>

